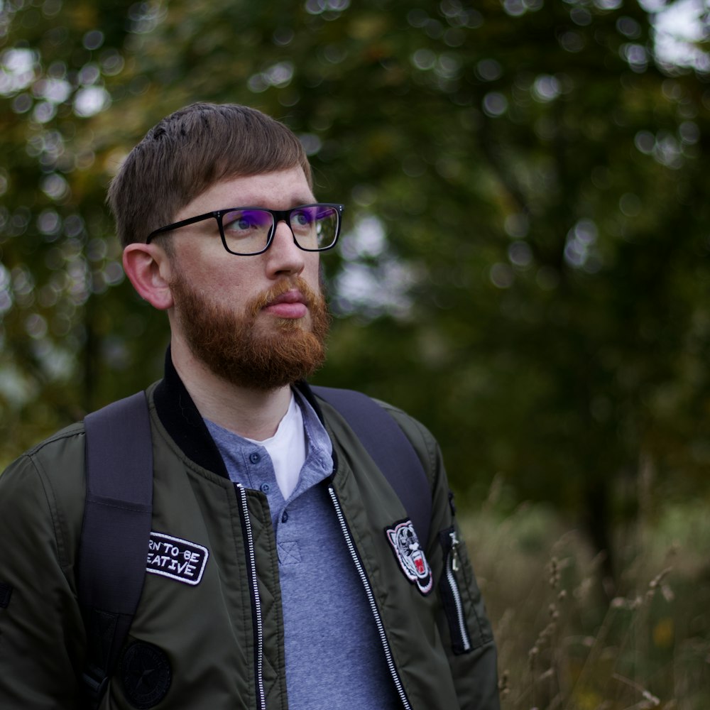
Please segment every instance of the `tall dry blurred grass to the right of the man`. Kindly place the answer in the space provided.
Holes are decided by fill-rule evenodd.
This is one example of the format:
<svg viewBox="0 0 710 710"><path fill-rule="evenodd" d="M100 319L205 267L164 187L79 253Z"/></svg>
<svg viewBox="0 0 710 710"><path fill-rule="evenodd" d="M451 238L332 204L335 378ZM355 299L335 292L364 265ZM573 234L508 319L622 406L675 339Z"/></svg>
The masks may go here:
<svg viewBox="0 0 710 710"><path fill-rule="evenodd" d="M616 589L545 506L464 518L504 710L710 709L710 504L619 530Z"/></svg>

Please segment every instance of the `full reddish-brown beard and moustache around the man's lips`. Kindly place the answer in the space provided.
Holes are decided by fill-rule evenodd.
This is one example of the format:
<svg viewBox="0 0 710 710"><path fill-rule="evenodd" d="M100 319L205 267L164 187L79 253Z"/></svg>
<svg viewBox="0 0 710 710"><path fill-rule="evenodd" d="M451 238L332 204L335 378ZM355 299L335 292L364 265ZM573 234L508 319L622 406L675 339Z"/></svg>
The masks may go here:
<svg viewBox="0 0 710 710"><path fill-rule="evenodd" d="M249 301L241 314L207 300L182 271L170 283L175 314L192 355L219 378L239 387L271 391L311 376L325 360L330 316L322 293L315 293L300 276L283 280ZM310 312L310 329L303 319L267 316L263 307L297 288Z"/></svg>

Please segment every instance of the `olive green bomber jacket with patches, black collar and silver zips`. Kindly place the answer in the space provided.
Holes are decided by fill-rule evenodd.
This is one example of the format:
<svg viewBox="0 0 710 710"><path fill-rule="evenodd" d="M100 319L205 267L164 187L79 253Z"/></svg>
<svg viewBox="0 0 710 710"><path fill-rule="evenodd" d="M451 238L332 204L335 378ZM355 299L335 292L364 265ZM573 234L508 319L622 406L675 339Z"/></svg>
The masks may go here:
<svg viewBox="0 0 710 710"><path fill-rule="evenodd" d="M432 483L430 539L422 547L433 584L422 594L386 535L406 520L402 503L339 413L306 385L300 389L333 442L334 473L324 485L403 707L496 710L496 650L435 440L388 408ZM189 580L184 563L183 572L146 574L102 709L285 710L278 557L266 496L229 481L175 371L168 368L148 393L153 542L175 541L173 549L194 564ZM4 710L80 706L86 636L75 577L84 485L82 425L58 432L0 476Z"/></svg>

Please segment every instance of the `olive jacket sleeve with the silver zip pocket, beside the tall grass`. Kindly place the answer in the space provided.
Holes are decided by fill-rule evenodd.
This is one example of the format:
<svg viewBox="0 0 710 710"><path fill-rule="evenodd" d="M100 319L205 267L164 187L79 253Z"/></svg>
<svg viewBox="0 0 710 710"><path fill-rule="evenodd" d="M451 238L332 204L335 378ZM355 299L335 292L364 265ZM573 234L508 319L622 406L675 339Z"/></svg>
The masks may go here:
<svg viewBox="0 0 710 710"><path fill-rule="evenodd" d="M461 710L499 710L496 644L491 623L456 519L441 450L431 433L390 410L413 443L432 484L427 559L437 594L437 626L447 652Z"/></svg>

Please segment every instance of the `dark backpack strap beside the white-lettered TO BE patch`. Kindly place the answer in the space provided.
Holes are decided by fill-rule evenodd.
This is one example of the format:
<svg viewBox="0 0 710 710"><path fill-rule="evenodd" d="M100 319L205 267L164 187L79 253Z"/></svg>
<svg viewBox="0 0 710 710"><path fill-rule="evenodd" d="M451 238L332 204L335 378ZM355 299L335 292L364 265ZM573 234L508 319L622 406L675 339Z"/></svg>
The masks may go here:
<svg viewBox="0 0 710 710"><path fill-rule="evenodd" d="M98 706L131 626L146 576L153 510L153 445L139 392L84 420L87 499L78 592L87 630L84 688Z"/></svg>

